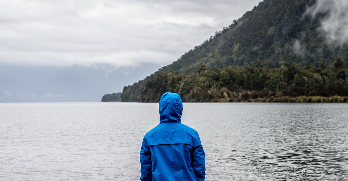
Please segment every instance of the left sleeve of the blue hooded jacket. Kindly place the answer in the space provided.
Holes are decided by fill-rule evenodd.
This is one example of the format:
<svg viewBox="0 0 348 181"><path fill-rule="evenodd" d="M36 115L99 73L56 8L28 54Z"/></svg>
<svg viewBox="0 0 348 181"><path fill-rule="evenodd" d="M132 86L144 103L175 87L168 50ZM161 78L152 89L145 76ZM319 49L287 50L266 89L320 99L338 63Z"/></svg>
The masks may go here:
<svg viewBox="0 0 348 181"><path fill-rule="evenodd" d="M141 177L142 181L151 181L152 172L151 172L151 153L149 146L147 145L146 139L144 137L143 143L140 150L140 164L141 164Z"/></svg>

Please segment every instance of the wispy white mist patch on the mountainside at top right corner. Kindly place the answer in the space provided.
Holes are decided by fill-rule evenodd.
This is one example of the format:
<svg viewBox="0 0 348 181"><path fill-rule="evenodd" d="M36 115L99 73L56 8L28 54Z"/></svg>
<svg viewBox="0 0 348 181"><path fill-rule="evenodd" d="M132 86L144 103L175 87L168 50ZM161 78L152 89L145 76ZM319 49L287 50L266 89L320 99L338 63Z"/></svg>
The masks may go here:
<svg viewBox="0 0 348 181"><path fill-rule="evenodd" d="M313 18L326 14L320 20L319 30L332 45L342 45L348 42L348 1L347 0L317 0L307 8L305 15Z"/></svg>

